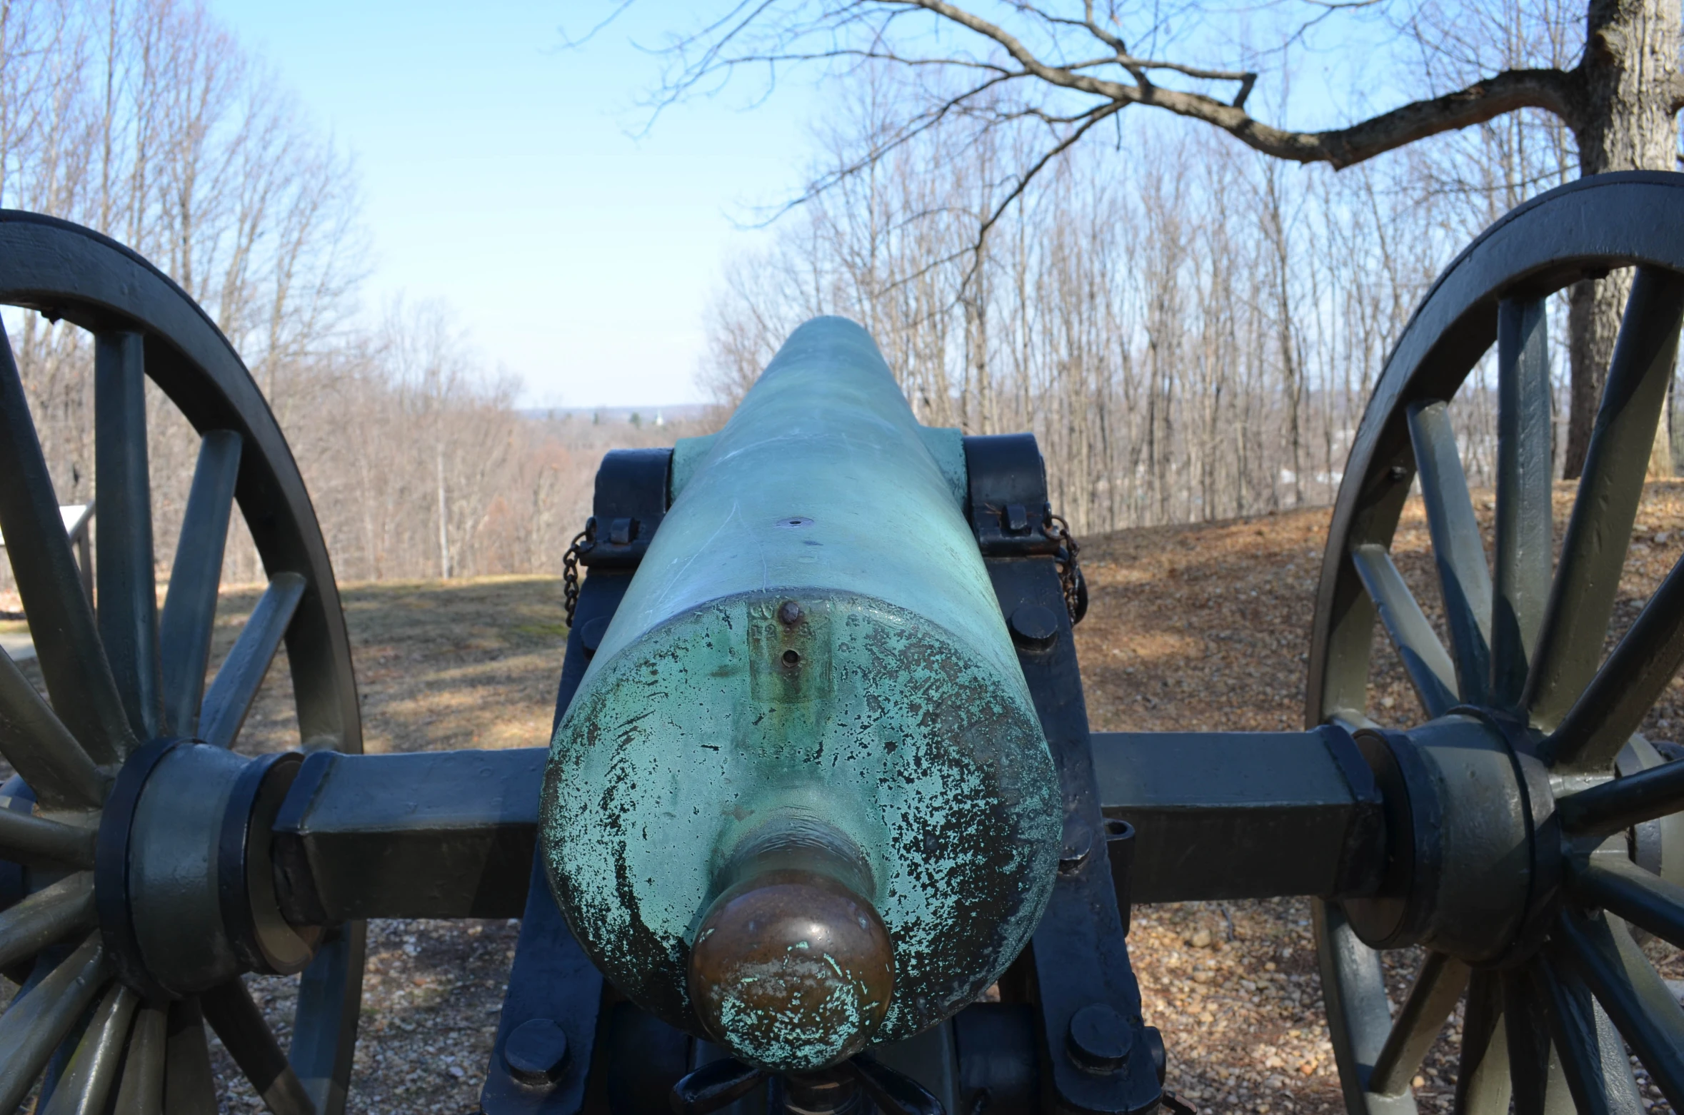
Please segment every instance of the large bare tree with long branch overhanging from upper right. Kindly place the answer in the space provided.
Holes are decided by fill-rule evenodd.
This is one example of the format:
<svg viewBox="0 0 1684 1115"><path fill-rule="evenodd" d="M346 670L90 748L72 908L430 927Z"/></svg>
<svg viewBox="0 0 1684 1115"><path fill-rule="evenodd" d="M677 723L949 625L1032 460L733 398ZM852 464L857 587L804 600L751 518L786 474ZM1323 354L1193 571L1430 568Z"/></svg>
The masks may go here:
<svg viewBox="0 0 1684 1115"><path fill-rule="evenodd" d="M1403 10L1396 24L1416 32L1421 72L1436 77L1431 84L1438 91L1346 126L1298 131L1248 111L1260 72L1207 61L1219 54L1209 45L1211 35L1180 35L1194 44L1192 56L1206 56L1192 61L1154 56L1138 45L1160 37L1167 20L1196 24L1196 5L1165 12L1162 5L1118 0L1009 0L995 5L999 17L990 19L983 7L953 0L739 0L672 44L672 69L657 103L743 67L773 77L780 66L802 62L899 67L911 76L903 111L850 160L815 179L810 195L958 121L987 133L1036 135L1012 173L997 180L975 241L1052 160L1130 106L1211 125L1271 158L1334 168L1521 109L1541 109L1559 121L1586 175L1667 170L1677 160L1676 116L1684 108L1679 0L1586 0L1578 13L1580 34L1568 34L1564 8L1551 7L1544 20L1551 34L1536 40L1509 30L1514 17L1529 13L1519 5L1507 5L1495 22L1482 20L1494 8L1487 0L1452 12L1431 0L1310 0L1310 7L1314 15L1275 56L1305 27L1340 8L1398 7ZM1467 49L1468 29L1482 25L1494 35ZM1431 34L1420 34L1423 29ZM1487 57L1492 40L1502 47L1495 52L1500 67L1490 67ZM1627 290L1628 278L1615 275L1600 283L1586 280L1571 295L1568 477L1583 465ZM1669 455L1657 456L1657 467L1667 465Z"/></svg>

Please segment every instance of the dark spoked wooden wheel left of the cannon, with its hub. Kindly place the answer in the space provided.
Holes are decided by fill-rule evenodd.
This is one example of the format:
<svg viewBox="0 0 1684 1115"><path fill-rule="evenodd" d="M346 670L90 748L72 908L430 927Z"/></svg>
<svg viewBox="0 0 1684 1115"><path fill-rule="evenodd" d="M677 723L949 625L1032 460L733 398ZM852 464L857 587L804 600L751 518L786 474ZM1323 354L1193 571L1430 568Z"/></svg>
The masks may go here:
<svg viewBox="0 0 1684 1115"><path fill-rule="evenodd" d="M301 744L360 751L350 647L327 547L280 426L210 318L126 248L0 212L0 303L94 337L98 615L61 525L0 337L0 531L51 707L0 654L0 1112L40 1085L49 1115L217 1110L209 1021L271 1112L345 1107L364 928L293 930L266 871L298 755L231 748L281 642ZM153 586L143 376L200 433L162 613ZM268 588L205 687L237 504ZM24 787L22 783L27 783ZM261 864L264 871L231 864ZM3 889L3 888L0 888ZM7 901L0 898L0 903ZM300 974L285 1054L242 972Z"/></svg>

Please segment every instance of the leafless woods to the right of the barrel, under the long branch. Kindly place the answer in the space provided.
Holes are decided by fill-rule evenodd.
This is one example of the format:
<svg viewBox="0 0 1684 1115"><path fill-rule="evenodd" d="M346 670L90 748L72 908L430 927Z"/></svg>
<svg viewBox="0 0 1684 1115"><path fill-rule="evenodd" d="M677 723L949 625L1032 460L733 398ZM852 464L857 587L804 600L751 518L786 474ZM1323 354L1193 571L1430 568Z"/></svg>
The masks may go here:
<svg viewBox="0 0 1684 1115"><path fill-rule="evenodd" d="M1489 15L1487 51L1578 51L1559 10ZM1511 19L1544 42L1504 42ZM731 401L795 322L854 317L925 423L1034 429L1078 532L1330 502L1374 377L1436 273L1504 211L1576 177L1543 115L1337 173L1140 120L1115 145L1066 152L989 227L1034 148L1000 150L999 113L975 104L973 130L950 120L908 140L906 76L855 72L815 175L834 185L727 273L709 382ZM1564 359L1556 372L1564 426ZM1453 408L1477 485L1494 382L1482 369Z"/></svg>

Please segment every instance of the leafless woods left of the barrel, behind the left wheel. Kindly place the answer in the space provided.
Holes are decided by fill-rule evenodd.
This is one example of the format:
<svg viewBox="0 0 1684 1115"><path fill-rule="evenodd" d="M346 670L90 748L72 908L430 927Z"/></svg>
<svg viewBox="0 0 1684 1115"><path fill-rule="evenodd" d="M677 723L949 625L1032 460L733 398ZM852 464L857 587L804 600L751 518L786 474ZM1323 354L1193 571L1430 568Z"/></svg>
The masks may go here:
<svg viewBox="0 0 1684 1115"><path fill-rule="evenodd" d="M611 445L682 424L536 419L448 312L357 315L355 167L285 84L177 0L0 0L0 204L138 249L227 333L293 446L345 579L556 571ZM7 312L61 502L94 495L93 344ZM197 438L152 394L158 568ZM98 529L98 519L96 519ZM227 578L258 579L248 541Z"/></svg>

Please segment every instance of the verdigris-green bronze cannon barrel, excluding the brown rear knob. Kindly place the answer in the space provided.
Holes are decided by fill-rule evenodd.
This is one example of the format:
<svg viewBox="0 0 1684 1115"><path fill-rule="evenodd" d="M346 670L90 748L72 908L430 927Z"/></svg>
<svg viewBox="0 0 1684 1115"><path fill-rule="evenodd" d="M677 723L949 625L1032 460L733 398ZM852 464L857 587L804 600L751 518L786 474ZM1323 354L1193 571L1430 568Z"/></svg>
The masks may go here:
<svg viewBox="0 0 1684 1115"><path fill-rule="evenodd" d="M861 327L800 327L729 424L680 451L551 746L542 849L579 942L645 1009L773 1068L972 1002L1052 884L1058 780L957 497L957 438L933 435ZM886 1012L857 990L827 1009L867 1019L859 1034L807 1032L709 985L733 1021L704 1027L687 979L709 906L810 846L887 930Z"/></svg>

